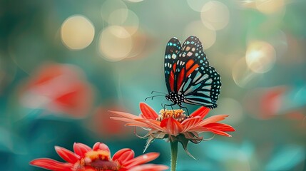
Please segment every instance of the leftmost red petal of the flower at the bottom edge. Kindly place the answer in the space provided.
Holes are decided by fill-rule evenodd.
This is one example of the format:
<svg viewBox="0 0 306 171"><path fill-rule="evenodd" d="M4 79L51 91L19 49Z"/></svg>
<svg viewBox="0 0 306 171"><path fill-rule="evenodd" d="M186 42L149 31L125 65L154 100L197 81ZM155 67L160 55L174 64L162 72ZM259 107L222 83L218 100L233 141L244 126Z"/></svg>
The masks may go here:
<svg viewBox="0 0 306 171"><path fill-rule="evenodd" d="M49 158L39 158L32 160L30 165L41 167L47 170L56 170L56 171L72 171L73 164L68 162L58 162Z"/></svg>

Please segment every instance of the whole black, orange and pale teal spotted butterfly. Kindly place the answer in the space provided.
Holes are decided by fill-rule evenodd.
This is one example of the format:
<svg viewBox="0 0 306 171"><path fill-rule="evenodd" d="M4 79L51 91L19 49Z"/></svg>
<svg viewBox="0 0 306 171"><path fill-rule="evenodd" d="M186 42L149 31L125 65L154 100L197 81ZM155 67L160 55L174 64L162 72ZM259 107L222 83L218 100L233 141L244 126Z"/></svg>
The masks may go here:
<svg viewBox="0 0 306 171"><path fill-rule="evenodd" d="M167 100L182 107L183 103L216 108L220 94L220 75L209 66L202 43L190 36L180 45L171 38L165 49L165 83Z"/></svg>

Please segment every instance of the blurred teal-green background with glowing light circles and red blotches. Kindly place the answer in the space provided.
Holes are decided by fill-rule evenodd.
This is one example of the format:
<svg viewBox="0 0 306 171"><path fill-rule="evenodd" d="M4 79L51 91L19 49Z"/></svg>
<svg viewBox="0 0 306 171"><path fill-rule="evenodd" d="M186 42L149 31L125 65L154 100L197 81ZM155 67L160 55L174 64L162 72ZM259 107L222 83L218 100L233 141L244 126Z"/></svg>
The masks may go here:
<svg viewBox="0 0 306 171"><path fill-rule="evenodd" d="M166 92L165 44L190 35L223 82L209 115L229 114L236 132L190 144L198 160L180 147L178 170L306 170L305 11L305 0L1 0L0 170L41 170L29 161L61 160L53 146L73 142L141 155L146 140L108 110L138 115ZM167 142L150 151L169 165Z"/></svg>

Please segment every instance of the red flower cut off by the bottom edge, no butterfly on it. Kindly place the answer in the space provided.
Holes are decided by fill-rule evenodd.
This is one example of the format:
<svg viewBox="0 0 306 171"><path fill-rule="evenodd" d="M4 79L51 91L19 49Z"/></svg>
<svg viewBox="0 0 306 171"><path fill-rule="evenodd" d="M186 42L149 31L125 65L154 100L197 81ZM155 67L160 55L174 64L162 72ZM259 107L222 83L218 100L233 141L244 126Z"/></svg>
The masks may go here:
<svg viewBox="0 0 306 171"><path fill-rule="evenodd" d="M96 142L92 149L82 143L74 143L74 152L57 146L55 150L66 162L40 158L32 160L30 164L56 171L158 171L168 169L165 165L144 164L155 160L159 155L157 152L149 152L145 155L134 157L133 150L124 148L116 152L111 158L108 146L102 142Z"/></svg>

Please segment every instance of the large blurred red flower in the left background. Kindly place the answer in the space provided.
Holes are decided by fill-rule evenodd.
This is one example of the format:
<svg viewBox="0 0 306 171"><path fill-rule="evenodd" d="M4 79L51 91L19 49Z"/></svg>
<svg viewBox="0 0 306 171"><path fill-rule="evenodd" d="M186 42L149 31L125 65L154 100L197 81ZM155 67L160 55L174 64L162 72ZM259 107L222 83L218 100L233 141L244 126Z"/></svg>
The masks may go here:
<svg viewBox="0 0 306 171"><path fill-rule="evenodd" d="M46 108L54 113L82 117L91 109L93 93L80 68L49 63L41 66L20 94L28 108Z"/></svg>

